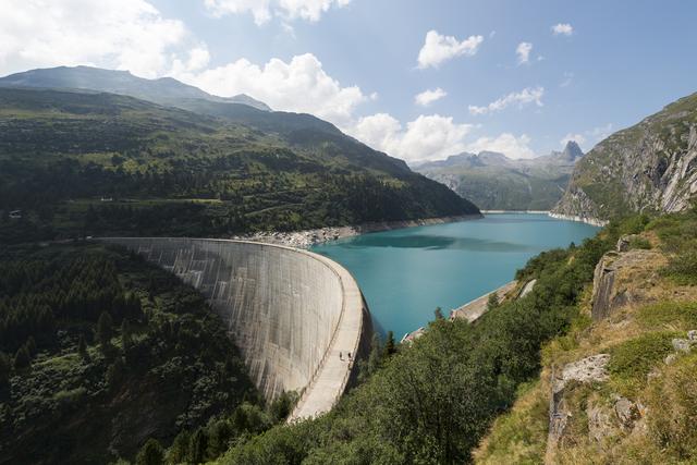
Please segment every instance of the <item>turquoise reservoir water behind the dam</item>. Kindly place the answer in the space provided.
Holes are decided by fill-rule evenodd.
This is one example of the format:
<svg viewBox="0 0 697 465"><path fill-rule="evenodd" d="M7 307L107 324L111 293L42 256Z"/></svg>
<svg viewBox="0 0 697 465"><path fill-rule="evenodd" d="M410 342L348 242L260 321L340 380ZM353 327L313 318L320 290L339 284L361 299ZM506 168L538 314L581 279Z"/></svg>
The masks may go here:
<svg viewBox="0 0 697 465"><path fill-rule="evenodd" d="M540 252L579 244L598 228L546 215L487 215L481 220L364 234L313 252L343 265L360 285L377 328L395 338L506 282Z"/></svg>

